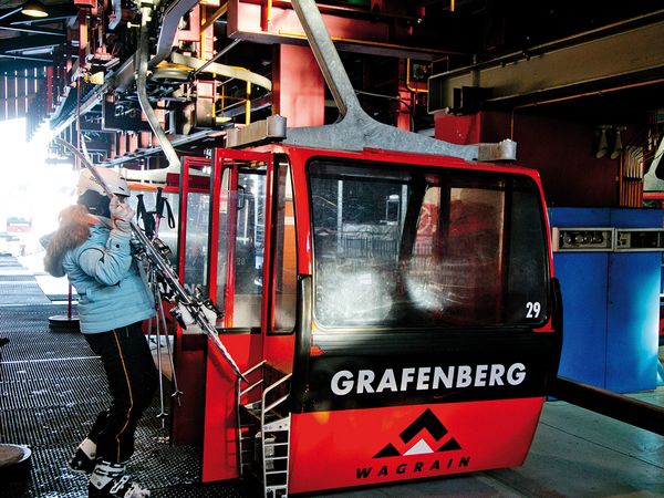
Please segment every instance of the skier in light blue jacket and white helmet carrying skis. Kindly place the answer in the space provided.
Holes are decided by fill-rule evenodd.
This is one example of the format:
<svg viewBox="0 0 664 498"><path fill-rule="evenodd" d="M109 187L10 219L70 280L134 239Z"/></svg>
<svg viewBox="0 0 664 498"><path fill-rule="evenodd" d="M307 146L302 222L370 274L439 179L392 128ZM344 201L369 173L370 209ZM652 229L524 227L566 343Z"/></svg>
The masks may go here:
<svg viewBox="0 0 664 498"><path fill-rule="evenodd" d="M156 367L142 330L155 302L132 256L132 208L120 201L128 186L115 170L100 168L114 194L108 199L90 170L81 173L75 206L60 214L44 267L66 274L80 295L81 332L104 364L111 406L101 412L70 461L90 474L90 497L144 498L149 491L125 476L134 433L157 386Z"/></svg>

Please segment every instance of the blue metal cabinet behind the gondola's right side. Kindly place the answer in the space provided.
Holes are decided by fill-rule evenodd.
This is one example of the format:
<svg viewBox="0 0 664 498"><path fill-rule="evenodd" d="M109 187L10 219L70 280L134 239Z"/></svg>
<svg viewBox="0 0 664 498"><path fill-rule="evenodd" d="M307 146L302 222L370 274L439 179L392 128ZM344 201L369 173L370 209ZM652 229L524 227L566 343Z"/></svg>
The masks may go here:
<svg viewBox="0 0 664 498"><path fill-rule="evenodd" d="M662 228L663 211L551 208L552 227ZM614 392L653 390L662 252L556 252L563 299L559 375Z"/></svg>

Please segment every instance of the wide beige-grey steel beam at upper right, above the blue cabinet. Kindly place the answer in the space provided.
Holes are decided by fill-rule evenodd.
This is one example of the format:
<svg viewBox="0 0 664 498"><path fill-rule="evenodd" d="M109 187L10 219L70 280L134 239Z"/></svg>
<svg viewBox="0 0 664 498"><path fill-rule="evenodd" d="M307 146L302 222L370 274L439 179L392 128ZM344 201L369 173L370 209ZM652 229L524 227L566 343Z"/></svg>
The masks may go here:
<svg viewBox="0 0 664 498"><path fill-rule="evenodd" d="M458 95L465 87L492 89L485 102L495 103L601 90L615 82L636 83L662 74L664 20L657 20L593 40L579 35L433 75L429 112L454 108L455 91Z"/></svg>

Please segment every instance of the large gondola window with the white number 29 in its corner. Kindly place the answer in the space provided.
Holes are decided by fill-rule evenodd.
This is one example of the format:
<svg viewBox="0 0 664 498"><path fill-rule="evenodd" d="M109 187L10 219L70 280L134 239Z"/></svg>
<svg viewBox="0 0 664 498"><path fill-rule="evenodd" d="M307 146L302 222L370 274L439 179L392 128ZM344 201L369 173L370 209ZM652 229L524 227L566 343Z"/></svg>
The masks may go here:
<svg viewBox="0 0 664 498"><path fill-rule="evenodd" d="M310 167L322 326L542 322L547 258L531 180L373 167Z"/></svg>

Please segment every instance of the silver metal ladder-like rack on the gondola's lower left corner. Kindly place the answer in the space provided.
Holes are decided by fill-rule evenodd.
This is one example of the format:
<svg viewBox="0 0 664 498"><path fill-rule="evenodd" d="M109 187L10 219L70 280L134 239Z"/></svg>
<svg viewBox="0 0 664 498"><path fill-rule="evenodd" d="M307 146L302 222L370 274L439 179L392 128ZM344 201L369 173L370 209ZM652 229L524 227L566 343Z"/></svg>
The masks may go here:
<svg viewBox="0 0 664 498"><path fill-rule="evenodd" d="M283 498L288 496L291 422L290 413L284 415L283 408L291 374L264 387L269 367L263 360L243 372L245 378L253 380L245 388L245 382L238 378L238 460L240 475L260 481L266 498ZM260 400L256 395L259 387L262 387Z"/></svg>

